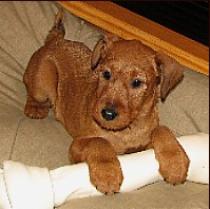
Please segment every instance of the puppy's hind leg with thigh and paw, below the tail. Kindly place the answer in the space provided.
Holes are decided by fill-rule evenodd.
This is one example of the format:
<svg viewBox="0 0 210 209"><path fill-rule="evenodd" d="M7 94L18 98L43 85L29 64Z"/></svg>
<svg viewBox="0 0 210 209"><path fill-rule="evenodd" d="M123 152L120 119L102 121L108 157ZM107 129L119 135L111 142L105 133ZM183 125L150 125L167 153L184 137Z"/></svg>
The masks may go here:
<svg viewBox="0 0 210 209"><path fill-rule="evenodd" d="M28 94L24 113L35 119L47 117L57 94L56 67L43 57L40 49L32 56L23 77Z"/></svg>

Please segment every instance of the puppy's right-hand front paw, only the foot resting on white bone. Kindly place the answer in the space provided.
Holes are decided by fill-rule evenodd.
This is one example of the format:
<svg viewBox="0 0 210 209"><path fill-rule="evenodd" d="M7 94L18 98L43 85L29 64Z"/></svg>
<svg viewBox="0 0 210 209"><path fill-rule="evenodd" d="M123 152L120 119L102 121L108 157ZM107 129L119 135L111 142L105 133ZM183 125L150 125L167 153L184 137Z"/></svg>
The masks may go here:
<svg viewBox="0 0 210 209"><path fill-rule="evenodd" d="M164 180L176 185L185 182L189 167L189 159L185 152L160 152L159 171Z"/></svg>

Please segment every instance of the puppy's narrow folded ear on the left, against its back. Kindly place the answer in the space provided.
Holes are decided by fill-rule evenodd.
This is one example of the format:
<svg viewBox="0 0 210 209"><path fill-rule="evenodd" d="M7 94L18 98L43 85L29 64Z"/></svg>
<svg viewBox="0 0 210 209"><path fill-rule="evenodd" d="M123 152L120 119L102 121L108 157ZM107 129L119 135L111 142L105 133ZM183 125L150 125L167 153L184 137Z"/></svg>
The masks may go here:
<svg viewBox="0 0 210 209"><path fill-rule="evenodd" d="M115 41L121 40L120 37L111 34L105 33L103 38L101 38L93 49L92 59L91 59L91 68L95 69L98 65L101 58L105 57L106 52L109 48L112 47L112 44Z"/></svg>

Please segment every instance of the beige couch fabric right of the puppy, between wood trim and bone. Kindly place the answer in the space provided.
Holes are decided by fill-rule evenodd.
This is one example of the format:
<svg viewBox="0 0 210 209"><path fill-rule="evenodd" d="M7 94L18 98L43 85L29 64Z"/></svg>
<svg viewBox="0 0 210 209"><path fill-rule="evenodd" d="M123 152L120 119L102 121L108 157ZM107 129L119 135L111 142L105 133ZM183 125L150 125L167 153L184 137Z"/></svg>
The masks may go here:
<svg viewBox="0 0 210 209"><path fill-rule="evenodd" d="M177 136L209 133L209 78L186 69L183 81L159 107L160 123Z"/></svg>

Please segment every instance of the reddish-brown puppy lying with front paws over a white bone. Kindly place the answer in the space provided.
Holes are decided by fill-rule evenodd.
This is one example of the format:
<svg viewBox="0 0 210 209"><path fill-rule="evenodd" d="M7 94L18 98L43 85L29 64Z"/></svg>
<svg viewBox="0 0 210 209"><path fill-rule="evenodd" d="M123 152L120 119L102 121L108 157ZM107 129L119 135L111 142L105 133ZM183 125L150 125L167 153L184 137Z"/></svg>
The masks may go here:
<svg viewBox="0 0 210 209"><path fill-rule="evenodd" d="M159 126L157 102L182 79L176 61L137 40L107 35L93 52L64 40L61 13L24 74L25 114L55 117L74 138L70 157L86 161L91 182L118 192L123 175L117 154L153 147L164 179L185 181L189 160L171 131Z"/></svg>

